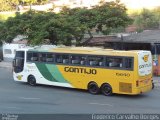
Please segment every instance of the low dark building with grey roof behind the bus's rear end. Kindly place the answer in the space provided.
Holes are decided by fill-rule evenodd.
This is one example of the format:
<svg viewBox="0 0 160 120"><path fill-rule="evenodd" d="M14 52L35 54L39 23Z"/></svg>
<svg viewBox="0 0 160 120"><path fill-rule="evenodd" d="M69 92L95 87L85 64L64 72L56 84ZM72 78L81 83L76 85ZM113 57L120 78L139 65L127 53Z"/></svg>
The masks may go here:
<svg viewBox="0 0 160 120"><path fill-rule="evenodd" d="M84 41L82 45L117 50L149 50L153 55L153 73L160 75L160 30L93 37L89 41Z"/></svg>

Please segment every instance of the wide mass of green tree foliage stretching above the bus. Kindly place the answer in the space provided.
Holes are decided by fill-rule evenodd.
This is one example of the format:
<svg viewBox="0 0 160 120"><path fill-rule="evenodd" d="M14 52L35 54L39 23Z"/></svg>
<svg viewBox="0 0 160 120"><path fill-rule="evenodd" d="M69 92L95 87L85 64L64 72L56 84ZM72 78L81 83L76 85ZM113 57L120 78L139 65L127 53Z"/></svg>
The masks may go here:
<svg viewBox="0 0 160 120"><path fill-rule="evenodd" d="M64 7L59 14L29 11L2 23L0 39L11 42L17 35L26 35L29 43L34 45L43 44L45 39L51 44L71 45L72 40L79 44L86 33L91 38L95 28L109 34L131 22L125 6L118 1L101 3L93 9Z"/></svg>

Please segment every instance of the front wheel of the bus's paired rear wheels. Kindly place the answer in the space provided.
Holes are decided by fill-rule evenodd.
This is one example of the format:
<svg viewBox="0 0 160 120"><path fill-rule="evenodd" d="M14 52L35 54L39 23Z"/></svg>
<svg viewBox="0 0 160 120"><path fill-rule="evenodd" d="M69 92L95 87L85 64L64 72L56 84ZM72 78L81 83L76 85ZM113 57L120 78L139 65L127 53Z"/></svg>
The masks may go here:
<svg viewBox="0 0 160 120"><path fill-rule="evenodd" d="M89 91L89 93L96 95L96 94L99 93L100 89L99 89L97 83L95 83L95 82L90 82L90 83L88 84L88 91Z"/></svg>

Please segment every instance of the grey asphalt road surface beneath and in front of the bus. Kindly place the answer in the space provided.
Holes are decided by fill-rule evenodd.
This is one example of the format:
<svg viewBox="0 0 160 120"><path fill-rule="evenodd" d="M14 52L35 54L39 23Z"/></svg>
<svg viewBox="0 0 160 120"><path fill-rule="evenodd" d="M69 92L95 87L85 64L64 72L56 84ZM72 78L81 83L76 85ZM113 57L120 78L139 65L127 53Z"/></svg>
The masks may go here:
<svg viewBox="0 0 160 120"><path fill-rule="evenodd" d="M160 113L160 89L137 96L91 95L83 90L15 82L10 69L0 68L0 113Z"/></svg>

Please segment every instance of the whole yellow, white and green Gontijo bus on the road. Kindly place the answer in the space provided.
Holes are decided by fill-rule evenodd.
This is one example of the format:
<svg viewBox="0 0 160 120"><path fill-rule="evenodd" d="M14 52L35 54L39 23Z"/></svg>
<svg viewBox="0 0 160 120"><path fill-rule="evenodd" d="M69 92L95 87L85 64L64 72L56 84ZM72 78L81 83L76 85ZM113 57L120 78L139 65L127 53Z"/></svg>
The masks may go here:
<svg viewBox="0 0 160 120"><path fill-rule="evenodd" d="M135 95L152 89L150 51L88 47L21 49L13 61L15 81Z"/></svg>

